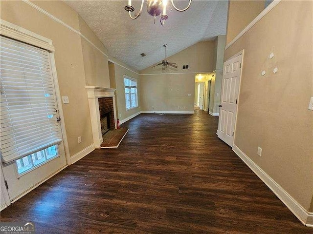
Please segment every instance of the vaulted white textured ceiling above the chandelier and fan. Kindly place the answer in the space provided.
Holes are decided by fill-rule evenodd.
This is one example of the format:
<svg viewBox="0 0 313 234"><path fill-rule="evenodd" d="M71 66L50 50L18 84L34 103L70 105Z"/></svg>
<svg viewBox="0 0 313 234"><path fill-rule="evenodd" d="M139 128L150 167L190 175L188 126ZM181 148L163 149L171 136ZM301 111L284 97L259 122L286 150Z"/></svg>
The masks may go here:
<svg viewBox="0 0 313 234"><path fill-rule="evenodd" d="M65 1L86 21L91 30L108 48L109 54L137 70L142 70L164 58L163 44L167 44L166 56L201 41L215 39L226 33L227 0L193 0L185 12L176 11L171 2L167 5L169 19L161 26L146 11L136 20L124 10L127 0L69 0ZM133 0L135 12L141 1ZM174 1L184 8L188 1ZM134 14L134 12L133 12ZM146 57L141 57L145 53ZM174 61L175 62L175 61Z"/></svg>

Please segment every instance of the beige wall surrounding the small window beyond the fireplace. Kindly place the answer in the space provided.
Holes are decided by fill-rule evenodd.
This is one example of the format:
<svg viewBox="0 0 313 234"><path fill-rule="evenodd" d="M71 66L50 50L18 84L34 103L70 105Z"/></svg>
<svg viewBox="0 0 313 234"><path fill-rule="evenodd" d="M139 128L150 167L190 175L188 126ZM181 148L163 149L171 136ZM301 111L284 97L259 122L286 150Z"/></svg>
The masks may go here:
<svg viewBox="0 0 313 234"><path fill-rule="evenodd" d="M138 72L128 66L127 64L119 61L118 59L110 57L110 60L113 61L113 65L110 65L110 73L112 74L114 66L114 80L115 80L115 94L116 94L116 103L117 103L117 113L119 120L124 120L128 117L131 117L134 114L137 114L141 111L141 99L140 99L140 78ZM124 86L124 75L134 78L137 80L137 92L138 92L138 107L126 110L126 100L125 100L125 86ZM113 79L113 78L111 78ZM113 81L112 81L113 83Z"/></svg>

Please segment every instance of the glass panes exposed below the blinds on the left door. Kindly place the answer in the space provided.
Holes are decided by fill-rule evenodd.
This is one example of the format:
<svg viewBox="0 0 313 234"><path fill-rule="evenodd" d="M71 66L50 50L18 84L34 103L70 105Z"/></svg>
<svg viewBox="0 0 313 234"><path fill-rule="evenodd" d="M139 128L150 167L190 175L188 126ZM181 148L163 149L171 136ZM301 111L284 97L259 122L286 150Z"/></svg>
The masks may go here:
<svg viewBox="0 0 313 234"><path fill-rule="evenodd" d="M57 146L53 145L34 154L24 156L15 161L19 175L44 164L52 158L58 156Z"/></svg>

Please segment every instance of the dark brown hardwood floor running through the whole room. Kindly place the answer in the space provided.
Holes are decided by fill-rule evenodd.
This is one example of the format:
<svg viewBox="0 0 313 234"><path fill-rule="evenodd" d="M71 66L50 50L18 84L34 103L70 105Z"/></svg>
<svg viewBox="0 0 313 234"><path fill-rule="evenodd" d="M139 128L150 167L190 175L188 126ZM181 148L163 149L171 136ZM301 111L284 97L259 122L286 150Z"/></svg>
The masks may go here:
<svg viewBox="0 0 313 234"><path fill-rule="evenodd" d="M37 234L312 234L217 138L218 118L141 114L1 212Z"/></svg>

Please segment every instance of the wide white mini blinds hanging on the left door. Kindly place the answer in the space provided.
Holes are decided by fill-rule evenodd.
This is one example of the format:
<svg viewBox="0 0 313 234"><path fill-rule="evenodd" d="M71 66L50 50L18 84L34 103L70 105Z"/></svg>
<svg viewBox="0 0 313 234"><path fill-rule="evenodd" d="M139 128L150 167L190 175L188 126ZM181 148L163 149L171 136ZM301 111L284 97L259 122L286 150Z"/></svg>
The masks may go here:
<svg viewBox="0 0 313 234"><path fill-rule="evenodd" d="M0 39L0 145L4 163L62 142L49 52Z"/></svg>

